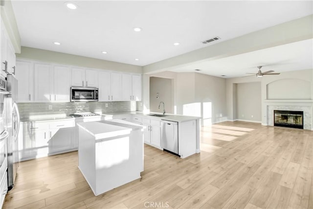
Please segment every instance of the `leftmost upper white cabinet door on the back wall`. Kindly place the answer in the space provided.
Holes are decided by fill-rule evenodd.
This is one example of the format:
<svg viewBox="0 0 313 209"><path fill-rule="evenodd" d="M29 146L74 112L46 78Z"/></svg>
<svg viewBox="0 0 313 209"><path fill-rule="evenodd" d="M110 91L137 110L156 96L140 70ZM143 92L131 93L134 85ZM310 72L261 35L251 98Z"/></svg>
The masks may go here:
<svg viewBox="0 0 313 209"><path fill-rule="evenodd" d="M19 81L17 102L31 102L34 100L34 70L33 64L16 62L16 75Z"/></svg>

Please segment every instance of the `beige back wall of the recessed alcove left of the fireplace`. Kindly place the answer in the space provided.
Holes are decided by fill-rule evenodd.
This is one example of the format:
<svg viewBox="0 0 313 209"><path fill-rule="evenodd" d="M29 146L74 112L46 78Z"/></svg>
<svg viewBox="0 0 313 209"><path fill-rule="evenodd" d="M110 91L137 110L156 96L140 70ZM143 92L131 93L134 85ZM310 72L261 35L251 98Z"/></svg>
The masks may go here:
<svg viewBox="0 0 313 209"><path fill-rule="evenodd" d="M239 83L236 92L237 119L261 122L261 82Z"/></svg>

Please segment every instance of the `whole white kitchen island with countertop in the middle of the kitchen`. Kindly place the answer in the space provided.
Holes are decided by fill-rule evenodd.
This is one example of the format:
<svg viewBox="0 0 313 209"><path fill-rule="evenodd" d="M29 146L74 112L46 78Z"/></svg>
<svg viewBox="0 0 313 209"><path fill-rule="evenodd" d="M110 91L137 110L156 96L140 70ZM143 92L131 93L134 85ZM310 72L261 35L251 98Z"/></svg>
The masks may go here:
<svg viewBox="0 0 313 209"><path fill-rule="evenodd" d="M78 167L96 196L140 178L142 126L113 119L78 127Z"/></svg>

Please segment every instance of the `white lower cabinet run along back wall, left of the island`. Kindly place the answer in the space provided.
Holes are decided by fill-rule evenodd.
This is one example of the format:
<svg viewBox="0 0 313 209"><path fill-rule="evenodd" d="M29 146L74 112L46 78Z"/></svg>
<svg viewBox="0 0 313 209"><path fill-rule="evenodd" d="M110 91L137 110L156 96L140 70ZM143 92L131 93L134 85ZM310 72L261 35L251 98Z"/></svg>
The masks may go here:
<svg viewBox="0 0 313 209"><path fill-rule="evenodd" d="M73 149L71 127L74 126L74 120L21 123L19 160L30 160Z"/></svg>

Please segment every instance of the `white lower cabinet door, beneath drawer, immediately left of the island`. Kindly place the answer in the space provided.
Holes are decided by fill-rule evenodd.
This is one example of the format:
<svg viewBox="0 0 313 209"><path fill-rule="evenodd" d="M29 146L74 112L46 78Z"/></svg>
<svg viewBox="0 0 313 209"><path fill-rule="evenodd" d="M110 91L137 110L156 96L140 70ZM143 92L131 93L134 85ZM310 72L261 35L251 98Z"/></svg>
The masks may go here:
<svg viewBox="0 0 313 209"><path fill-rule="evenodd" d="M49 153L72 149L72 133L72 128L50 129Z"/></svg>

